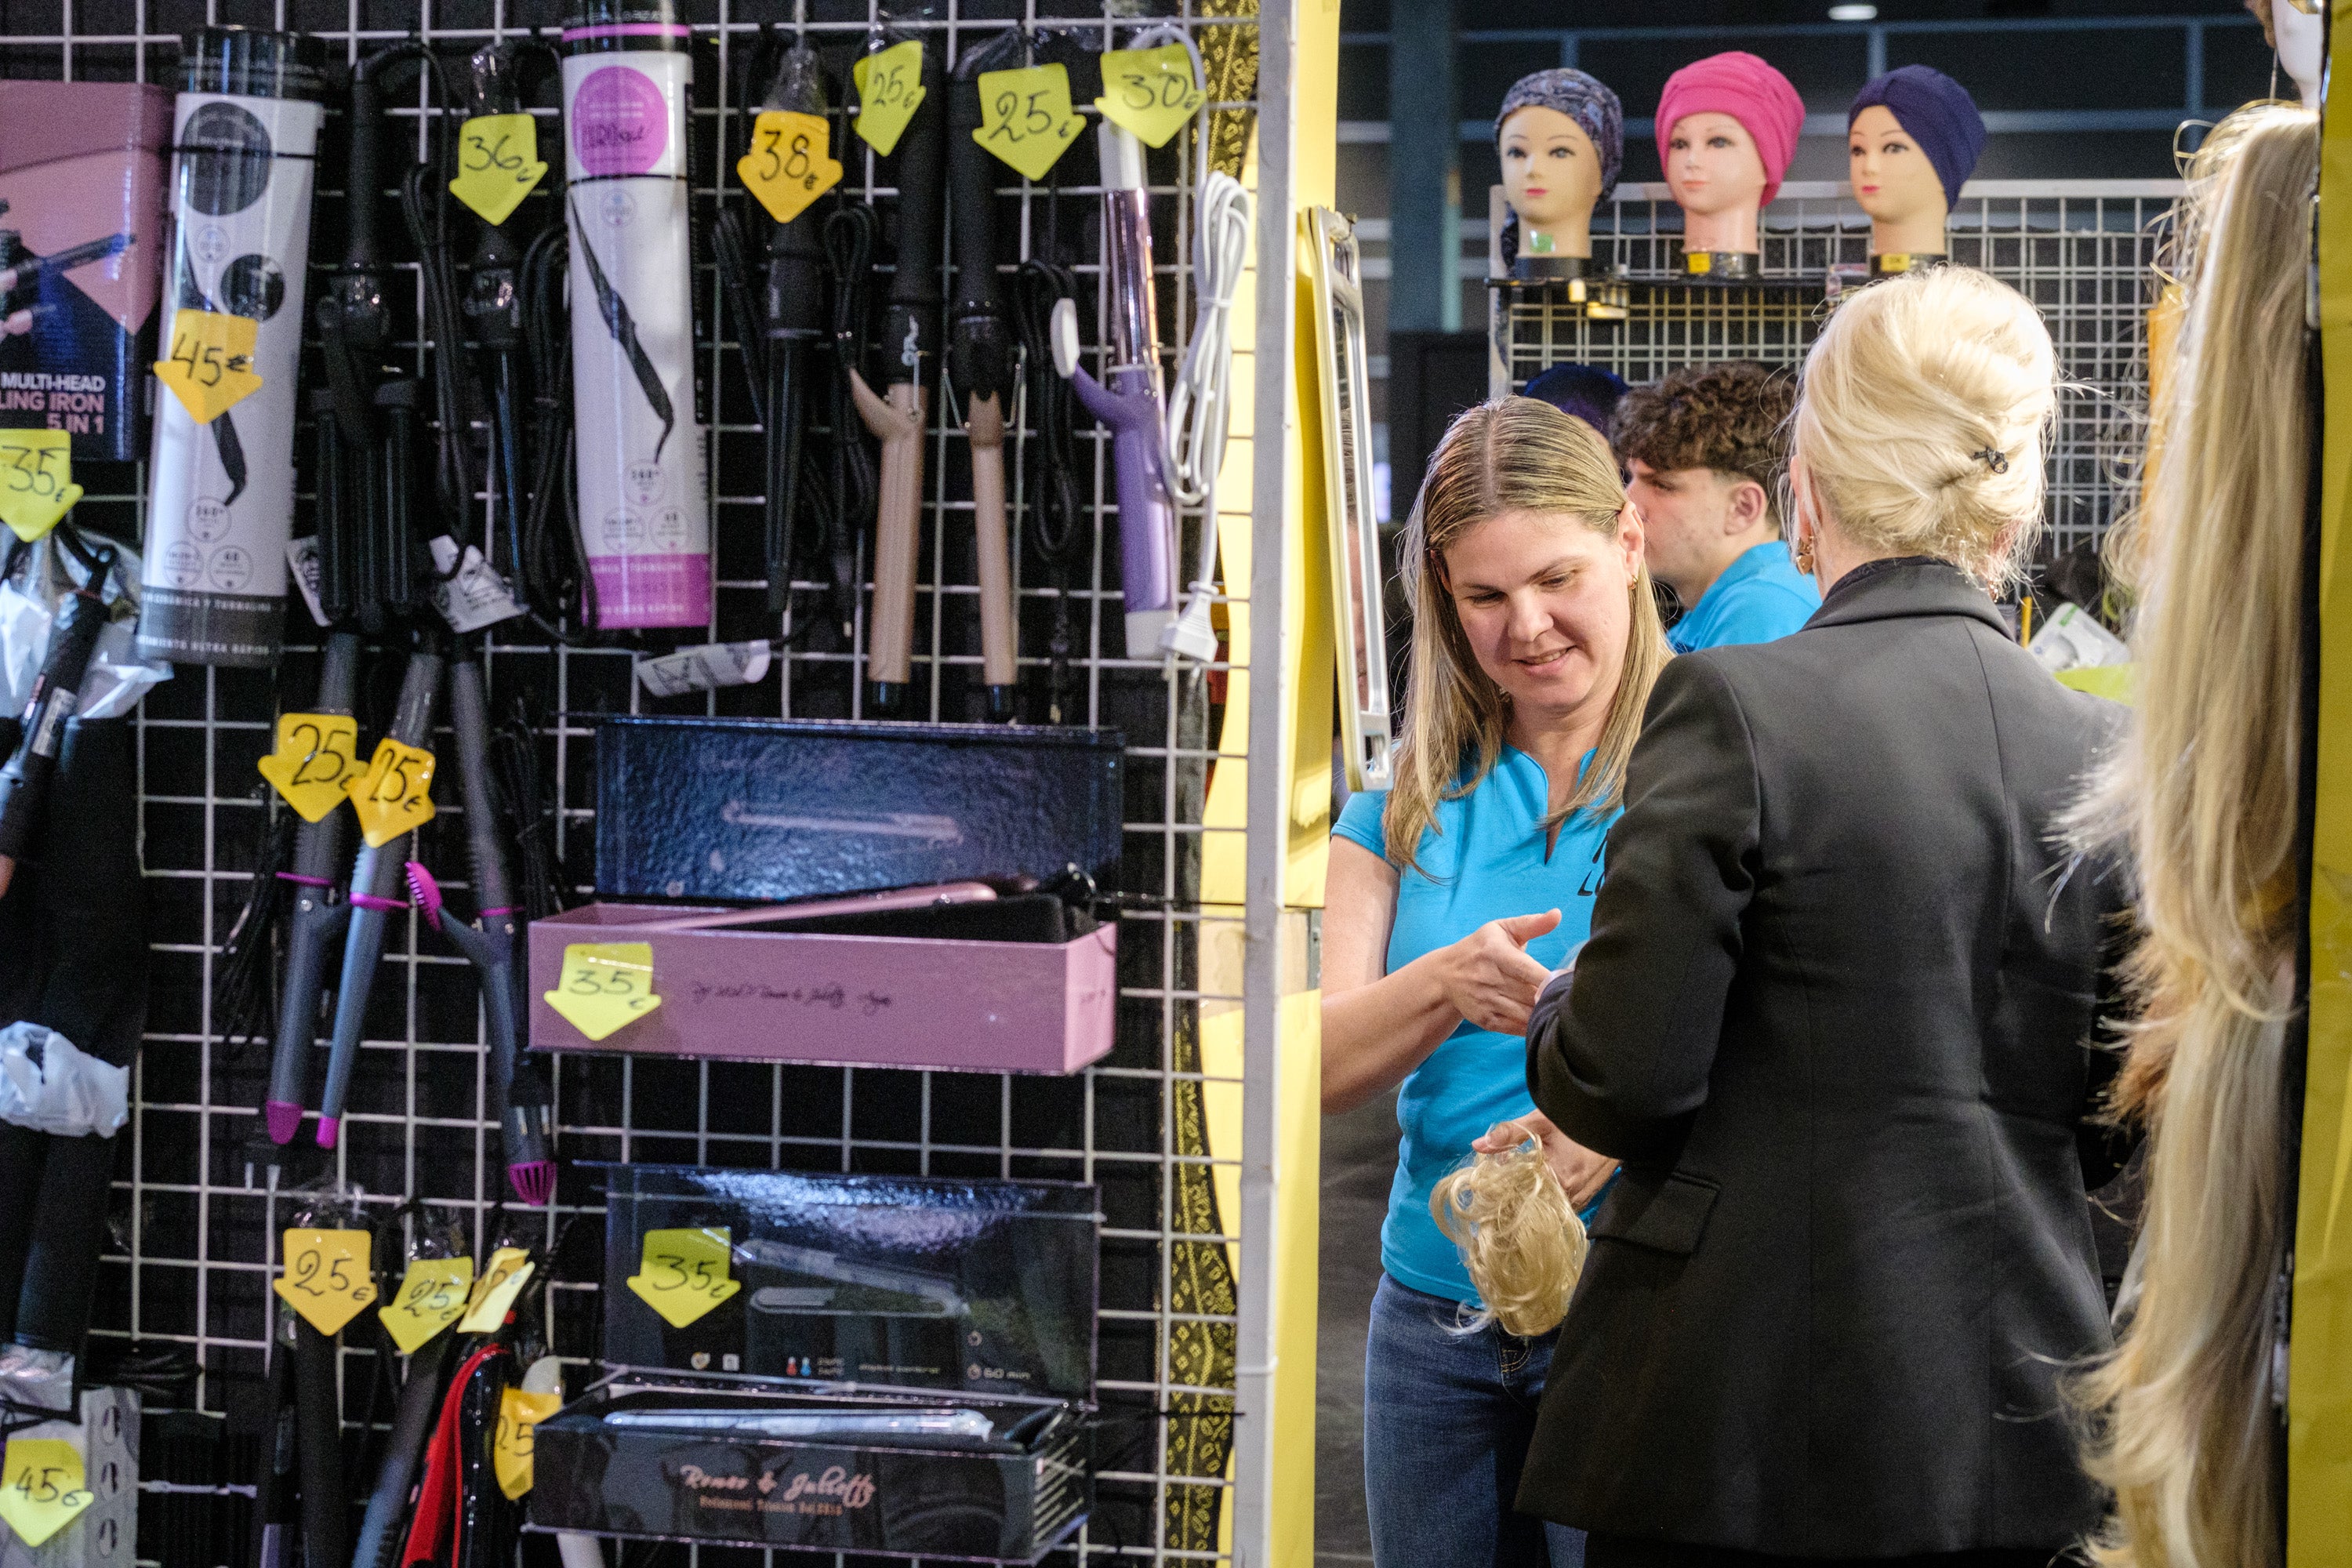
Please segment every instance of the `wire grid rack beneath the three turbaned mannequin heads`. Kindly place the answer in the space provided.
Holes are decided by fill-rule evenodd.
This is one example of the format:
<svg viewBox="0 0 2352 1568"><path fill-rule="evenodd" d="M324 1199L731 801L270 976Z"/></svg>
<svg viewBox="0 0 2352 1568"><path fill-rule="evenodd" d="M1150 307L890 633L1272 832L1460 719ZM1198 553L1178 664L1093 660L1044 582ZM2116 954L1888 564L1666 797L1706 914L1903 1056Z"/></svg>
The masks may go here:
<svg viewBox="0 0 2352 1568"><path fill-rule="evenodd" d="M1973 181L1947 228L1950 259L2011 284L2049 322L2067 393L2049 444L2049 543L2100 538L2129 505L2147 418L2147 308L2176 181ZM1491 235L1508 212L1491 200ZM1764 209L1755 284L1682 275L1682 212L1665 186L1618 186L1592 214L1592 256L1623 268L1625 320L1592 320L1562 287L1489 292L1496 393L1545 367L1599 364L1630 383L1686 364L1795 367L1835 308L1832 277L1858 287L1870 216L1837 183L1788 183ZM1501 273L1501 240L1489 270Z"/></svg>

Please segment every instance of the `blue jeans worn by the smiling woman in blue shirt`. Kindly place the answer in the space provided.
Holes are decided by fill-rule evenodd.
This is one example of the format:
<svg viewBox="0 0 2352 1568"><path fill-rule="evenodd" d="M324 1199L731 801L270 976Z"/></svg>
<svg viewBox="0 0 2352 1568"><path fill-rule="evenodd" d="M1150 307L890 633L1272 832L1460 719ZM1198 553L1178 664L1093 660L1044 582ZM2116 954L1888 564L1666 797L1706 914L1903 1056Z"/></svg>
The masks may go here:
<svg viewBox="0 0 2352 1568"><path fill-rule="evenodd" d="M1552 1340L1388 1274L1364 1345L1364 1502L1376 1568L1583 1568L1585 1533L1512 1512Z"/></svg>

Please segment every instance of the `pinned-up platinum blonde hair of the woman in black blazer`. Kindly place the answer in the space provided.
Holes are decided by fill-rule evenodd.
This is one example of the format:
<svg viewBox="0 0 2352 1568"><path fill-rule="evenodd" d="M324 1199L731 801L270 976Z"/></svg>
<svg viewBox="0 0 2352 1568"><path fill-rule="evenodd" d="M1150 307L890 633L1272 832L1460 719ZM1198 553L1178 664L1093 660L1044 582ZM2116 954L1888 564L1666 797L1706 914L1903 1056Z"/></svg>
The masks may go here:
<svg viewBox="0 0 2352 1568"><path fill-rule="evenodd" d="M1792 444L1846 538L1936 555L1999 590L2042 529L2056 400L2042 313L1985 273L1940 266L1830 315L1804 360Z"/></svg>

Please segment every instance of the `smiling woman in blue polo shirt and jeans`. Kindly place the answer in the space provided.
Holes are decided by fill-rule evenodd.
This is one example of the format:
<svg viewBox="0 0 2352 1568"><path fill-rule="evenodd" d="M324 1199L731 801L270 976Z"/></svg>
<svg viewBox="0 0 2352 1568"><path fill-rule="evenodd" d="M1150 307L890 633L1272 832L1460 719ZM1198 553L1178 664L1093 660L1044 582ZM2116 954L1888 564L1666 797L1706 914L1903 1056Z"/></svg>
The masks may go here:
<svg viewBox="0 0 2352 1568"><path fill-rule="evenodd" d="M1665 632L1616 458L1529 397L1446 430L1404 581L1397 783L1334 830L1322 969L1324 1110L1397 1088L1404 1131L1364 1352L1371 1556L1573 1568L1578 1530L1510 1507L1552 1338L1482 1319L1430 1190L1505 1121L1543 1140L1578 1206L1613 1173L1536 1112L1522 1030L1585 940Z"/></svg>

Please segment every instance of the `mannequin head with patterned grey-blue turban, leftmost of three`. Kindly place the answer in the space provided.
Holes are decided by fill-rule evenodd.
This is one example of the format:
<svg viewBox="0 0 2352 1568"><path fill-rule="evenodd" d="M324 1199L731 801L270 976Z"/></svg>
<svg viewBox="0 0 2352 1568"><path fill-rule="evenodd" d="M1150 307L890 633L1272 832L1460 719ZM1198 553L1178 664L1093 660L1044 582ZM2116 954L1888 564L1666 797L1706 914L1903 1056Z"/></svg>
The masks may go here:
<svg viewBox="0 0 2352 1568"><path fill-rule="evenodd" d="M1519 216L1522 256L1590 256L1592 209L1625 160L1625 110L1583 71L1519 78L1496 110L1494 150Z"/></svg>

